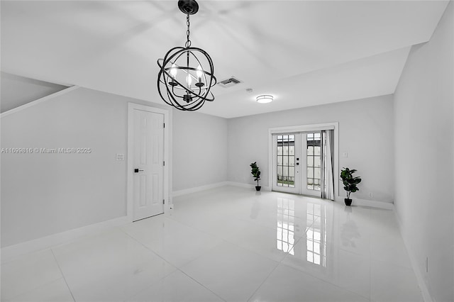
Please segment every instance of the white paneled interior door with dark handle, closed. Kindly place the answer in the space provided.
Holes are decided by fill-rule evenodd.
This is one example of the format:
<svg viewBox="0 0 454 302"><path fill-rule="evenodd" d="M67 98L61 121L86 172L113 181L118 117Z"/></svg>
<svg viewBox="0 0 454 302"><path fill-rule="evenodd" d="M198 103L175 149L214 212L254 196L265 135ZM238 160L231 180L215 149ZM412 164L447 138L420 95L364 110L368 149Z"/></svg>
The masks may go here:
<svg viewBox="0 0 454 302"><path fill-rule="evenodd" d="M164 213L164 115L133 111L133 220Z"/></svg>

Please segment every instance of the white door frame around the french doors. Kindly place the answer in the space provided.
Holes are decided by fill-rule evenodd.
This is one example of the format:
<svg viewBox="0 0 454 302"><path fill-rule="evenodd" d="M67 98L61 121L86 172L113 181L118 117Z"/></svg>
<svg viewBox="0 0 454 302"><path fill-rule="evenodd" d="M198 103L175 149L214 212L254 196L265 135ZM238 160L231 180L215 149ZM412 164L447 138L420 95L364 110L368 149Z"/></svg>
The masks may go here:
<svg viewBox="0 0 454 302"><path fill-rule="evenodd" d="M278 133L299 133L319 130L334 130L334 200L341 201L339 195L339 123L321 123L310 125L294 125L287 127L268 128L268 187L272 190L273 165L272 165L272 135Z"/></svg>

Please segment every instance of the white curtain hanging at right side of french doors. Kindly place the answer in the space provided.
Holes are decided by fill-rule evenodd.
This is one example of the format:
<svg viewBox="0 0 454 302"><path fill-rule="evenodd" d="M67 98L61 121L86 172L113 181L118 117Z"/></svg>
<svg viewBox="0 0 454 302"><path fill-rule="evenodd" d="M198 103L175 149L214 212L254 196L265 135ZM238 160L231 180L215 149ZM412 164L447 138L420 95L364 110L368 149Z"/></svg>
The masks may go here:
<svg viewBox="0 0 454 302"><path fill-rule="evenodd" d="M323 130L323 152L326 154L326 160L323 160L322 171L325 172L321 180L321 198L334 200L334 130ZM322 144L323 145L323 144ZM323 158L323 157L322 157Z"/></svg>

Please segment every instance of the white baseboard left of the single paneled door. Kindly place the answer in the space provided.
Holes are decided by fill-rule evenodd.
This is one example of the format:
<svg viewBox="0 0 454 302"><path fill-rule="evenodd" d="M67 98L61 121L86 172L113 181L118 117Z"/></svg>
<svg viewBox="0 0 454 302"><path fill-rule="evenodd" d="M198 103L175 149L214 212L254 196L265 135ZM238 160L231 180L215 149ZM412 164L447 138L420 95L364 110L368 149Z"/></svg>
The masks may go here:
<svg viewBox="0 0 454 302"><path fill-rule="evenodd" d="M106 220L101 223L95 223L93 225L86 225L82 228L75 228L73 230L67 230L62 233L21 242L17 245L3 247L1 249L1 263L9 262L9 260L20 255L37 252L39 250L45 250L49 247L55 247L57 245L62 245L63 243L70 242L71 240L75 240L79 237L101 233L106 229L125 225L127 223L131 223L131 219L128 218L128 216L123 216L111 220Z"/></svg>

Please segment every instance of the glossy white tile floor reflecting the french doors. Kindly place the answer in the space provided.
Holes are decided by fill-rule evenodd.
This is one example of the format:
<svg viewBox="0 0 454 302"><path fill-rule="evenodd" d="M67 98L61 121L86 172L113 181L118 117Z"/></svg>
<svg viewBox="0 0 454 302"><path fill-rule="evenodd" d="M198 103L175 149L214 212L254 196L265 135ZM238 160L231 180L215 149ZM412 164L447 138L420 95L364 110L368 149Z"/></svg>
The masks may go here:
<svg viewBox="0 0 454 302"><path fill-rule="evenodd" d="M1 301L423 301L392 211L235 186L1 264Z"/></svg>

